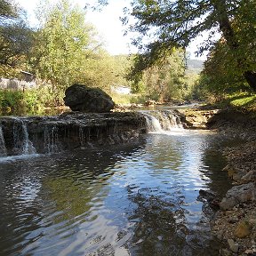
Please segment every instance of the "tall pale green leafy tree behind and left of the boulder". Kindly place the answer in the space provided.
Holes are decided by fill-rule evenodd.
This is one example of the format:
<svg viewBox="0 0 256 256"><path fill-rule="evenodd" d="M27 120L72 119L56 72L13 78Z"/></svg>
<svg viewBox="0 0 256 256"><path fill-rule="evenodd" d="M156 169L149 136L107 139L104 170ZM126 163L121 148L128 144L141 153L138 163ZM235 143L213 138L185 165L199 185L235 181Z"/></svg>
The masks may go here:
<svg viewBox="0 0 256 256"><path fill-rule="evenodd" d="M94 60L102 50L94 28L84 22L84 10L60 0L41 6L39 16L41 28L30 61L37 76L50 81L58 96L75 82L92 84Z"/></svg>

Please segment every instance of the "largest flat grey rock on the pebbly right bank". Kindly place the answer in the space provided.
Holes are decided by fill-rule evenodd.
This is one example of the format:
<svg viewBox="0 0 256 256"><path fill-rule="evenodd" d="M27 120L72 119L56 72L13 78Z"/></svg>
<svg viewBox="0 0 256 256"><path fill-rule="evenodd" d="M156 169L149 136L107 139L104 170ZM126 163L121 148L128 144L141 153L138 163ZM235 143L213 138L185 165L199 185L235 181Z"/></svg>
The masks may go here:
<svg viewBox="0 0 256 256"><path fill-rule="evenodd" d="M229 189L227 195L220 202L220 209L230 210L236 204L248 201L256 201L256 188L253 182Z"/></svg>

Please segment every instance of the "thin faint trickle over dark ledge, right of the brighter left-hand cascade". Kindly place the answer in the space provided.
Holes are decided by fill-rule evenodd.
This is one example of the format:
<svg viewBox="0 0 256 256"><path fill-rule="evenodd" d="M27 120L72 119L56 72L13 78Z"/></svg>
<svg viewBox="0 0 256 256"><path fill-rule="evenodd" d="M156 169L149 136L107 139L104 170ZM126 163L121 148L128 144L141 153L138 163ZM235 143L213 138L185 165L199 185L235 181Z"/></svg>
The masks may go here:
<svg viewBox="0 0 256 256"><path fill-rule="evenodd" d="M44 150L47 154L60 152L58 127L45 125L44 127Z"/></svg>

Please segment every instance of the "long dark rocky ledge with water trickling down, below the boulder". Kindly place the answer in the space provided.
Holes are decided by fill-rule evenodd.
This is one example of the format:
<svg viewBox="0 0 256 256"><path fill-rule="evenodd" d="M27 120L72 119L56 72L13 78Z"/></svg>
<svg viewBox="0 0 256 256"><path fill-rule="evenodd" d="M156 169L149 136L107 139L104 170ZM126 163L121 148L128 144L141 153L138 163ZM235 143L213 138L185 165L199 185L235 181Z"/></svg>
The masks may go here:
<svg viewBox="0 0 256 256"><path fill-rule="evenodd" d="M55 153L138 140L146 132L140 113L79 113L0 118L1 156Z"/></svg>

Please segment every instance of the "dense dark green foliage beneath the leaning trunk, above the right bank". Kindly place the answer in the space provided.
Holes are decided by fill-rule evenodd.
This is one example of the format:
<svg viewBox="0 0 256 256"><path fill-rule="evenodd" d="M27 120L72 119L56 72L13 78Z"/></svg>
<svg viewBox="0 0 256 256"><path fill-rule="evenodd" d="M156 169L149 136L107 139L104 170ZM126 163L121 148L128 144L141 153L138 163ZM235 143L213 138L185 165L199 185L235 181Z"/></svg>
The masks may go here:
<svg viewBox="0 0 256 256"><path fill-rule="evenodd" d="M251 28L253 24L255 26L256 19L255 16L252 17L255 13L253 14L253 9L252 11L248 9L249 6L249 4L241 6L239 15L237 14L232 20L232 28L236 32L238 42L236 51L232 51L227 40L221 37L213 45L204 63L201 87L215 95L217 100L237 91L252 92L252 88L248 86L244 77L244 70L256 70L256 44L255 39L252 40L252 32L255 35L256 27ZM241 24L246 23L250 25L247 24L242 28Z"/></svg>

